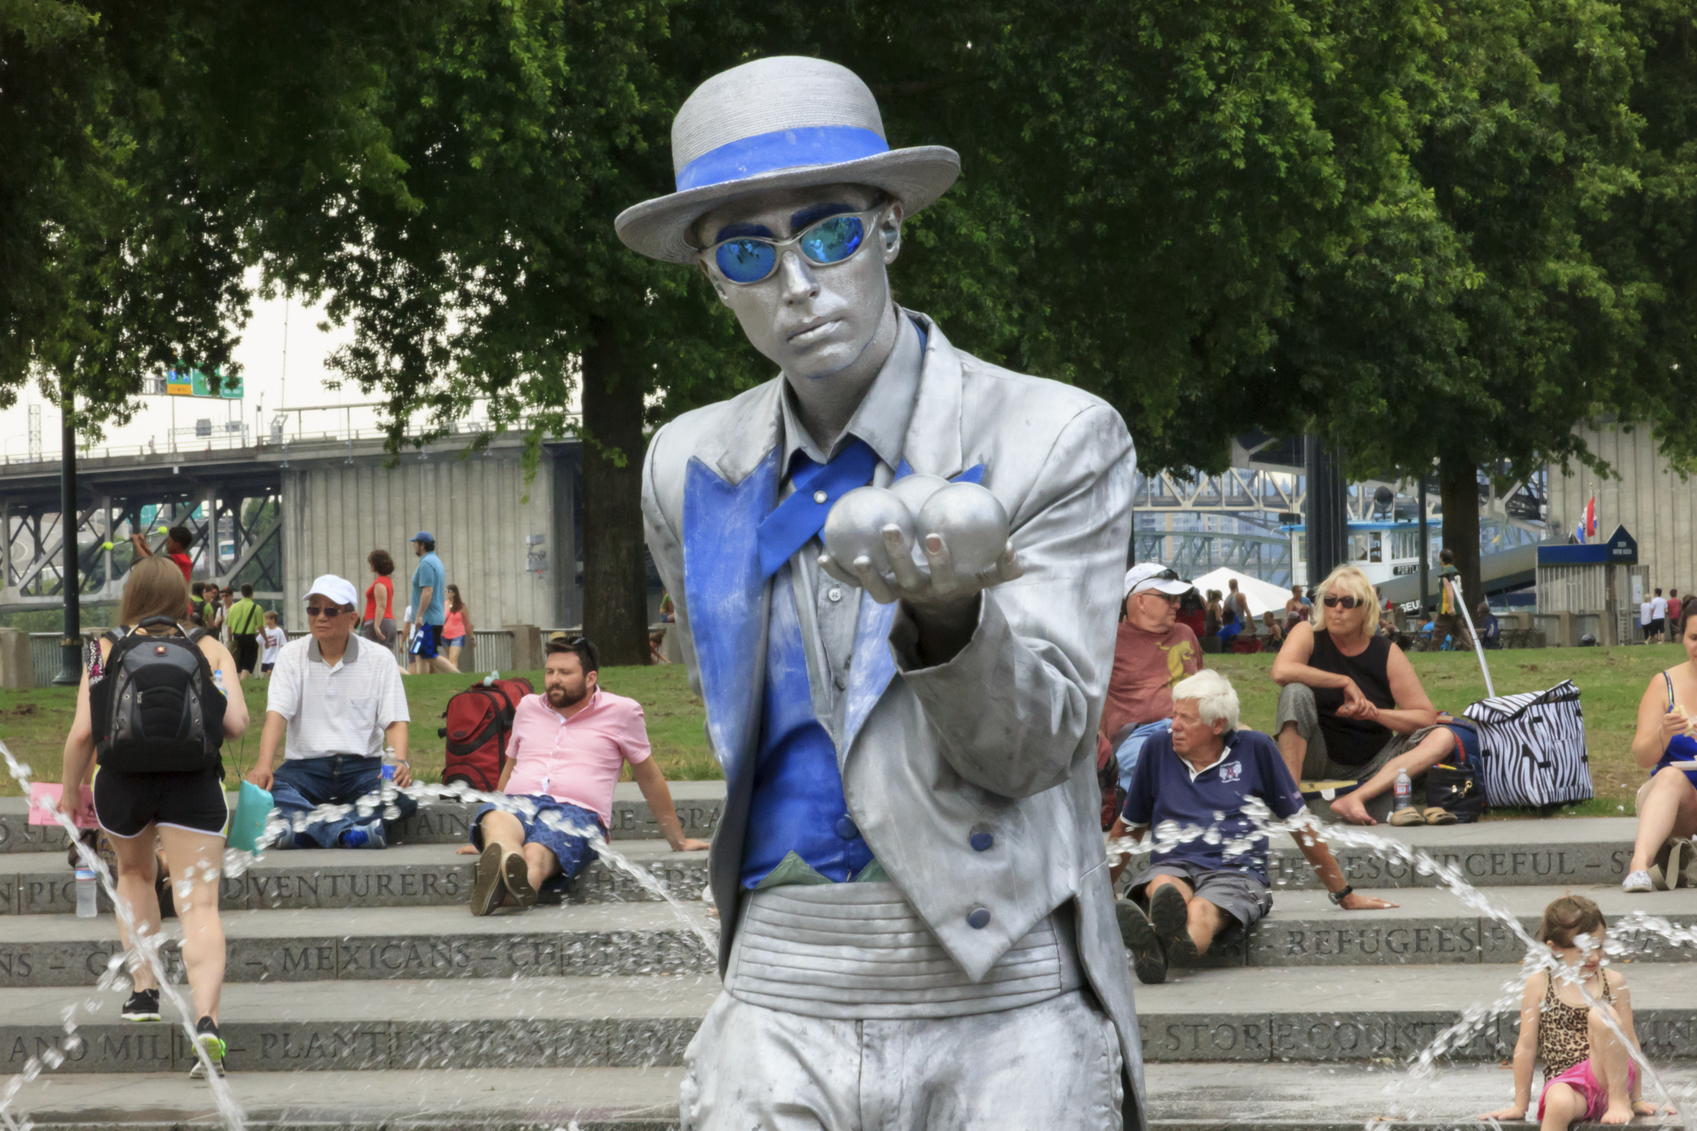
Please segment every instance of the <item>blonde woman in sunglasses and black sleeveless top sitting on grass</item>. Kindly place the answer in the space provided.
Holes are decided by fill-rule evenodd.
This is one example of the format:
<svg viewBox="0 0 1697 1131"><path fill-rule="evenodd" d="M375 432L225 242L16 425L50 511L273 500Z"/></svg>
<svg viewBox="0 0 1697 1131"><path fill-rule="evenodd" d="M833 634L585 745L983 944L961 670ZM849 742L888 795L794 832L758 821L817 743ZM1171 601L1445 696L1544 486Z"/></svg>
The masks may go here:
<svg viewBox="0 0 1697 1131"><path fill-rule="evenodd" d="M1409 657L1378 635L1380 608L1366 574L1334 569L1315 593L1315 613L1290 630L1273 661L1273 683L1283 688L1273 723L1280 756L1297 781L1363 781L1407 754L1437 712ZM1312 807L1329 815L1325 802ZM1383 798L1373 817L1388 815Z"/></svg>

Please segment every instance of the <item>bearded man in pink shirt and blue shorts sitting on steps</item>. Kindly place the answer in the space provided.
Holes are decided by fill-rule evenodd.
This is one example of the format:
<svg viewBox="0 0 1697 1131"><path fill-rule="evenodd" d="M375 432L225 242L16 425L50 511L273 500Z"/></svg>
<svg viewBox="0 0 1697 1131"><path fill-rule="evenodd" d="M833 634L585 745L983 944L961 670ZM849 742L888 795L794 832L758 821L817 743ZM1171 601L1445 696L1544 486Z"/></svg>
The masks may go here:
<svg viewBox="0 0 1697 1131"><path fill-rule="evenodd" d="M589 640L550 642L543 695L519 700L501 771L507 803L485 805L472 819L472 847L480 852L473 915L504 902L523 910L545 885L565 886L582 871L592 841L608 836L624 762L672 851L708 847L684 836L672 791L650 757L641 705L602 691L599 666Z"/></svg>

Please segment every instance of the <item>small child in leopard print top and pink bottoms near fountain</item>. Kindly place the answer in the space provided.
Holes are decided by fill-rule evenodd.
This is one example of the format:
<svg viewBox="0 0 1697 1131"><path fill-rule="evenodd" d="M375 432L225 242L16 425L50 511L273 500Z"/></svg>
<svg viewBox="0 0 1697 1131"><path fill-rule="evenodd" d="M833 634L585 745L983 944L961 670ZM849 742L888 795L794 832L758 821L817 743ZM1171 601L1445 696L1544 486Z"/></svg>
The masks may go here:
<svg viewBox="0 0 1697 1131"><path fill-rule="evenodd" d="M1532 1099L1532 1065L1544 1063L1544 1092L1537 1100L1543 1131L1568 1131L1578 1121L1627 1123L1634 1114L1656 1114L1639 1099L1638 1065L1643 1056L1633 1029L1633 999L1626 976L1602 965L1609 924L1583 895L1565 895L1544 909L1537 937L1578 976L1539 970L1526 980L1521 997L1521 1039L1514 1046L1514 1104L1480 1119L1526 1119ZM1588 1005L1585 995L1597 1002ZM1607 1012L1631 1041L1631 1049L1604 1021ZM1672 1111L1672 1109L1670 1109Z"/></svg>

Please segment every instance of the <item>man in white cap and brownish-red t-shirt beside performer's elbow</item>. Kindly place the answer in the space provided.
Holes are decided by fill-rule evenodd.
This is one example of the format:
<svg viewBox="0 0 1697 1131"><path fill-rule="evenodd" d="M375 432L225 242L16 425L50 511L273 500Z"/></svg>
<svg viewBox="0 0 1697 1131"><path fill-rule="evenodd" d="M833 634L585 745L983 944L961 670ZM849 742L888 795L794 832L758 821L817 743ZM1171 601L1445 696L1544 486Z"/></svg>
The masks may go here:
<svg viewBox="0 0 1697 1131"><path fill-rule="evenodd" d="M1113 751L1122 802L1144 742L1173 727L1173 684L1203 669L1196 633L1178 623L1179 598L1193 588L1159 562L1125 571L1113 674L1100 727L1103 744ZM1118 807L1113 812L1118 815Z"/></svg>

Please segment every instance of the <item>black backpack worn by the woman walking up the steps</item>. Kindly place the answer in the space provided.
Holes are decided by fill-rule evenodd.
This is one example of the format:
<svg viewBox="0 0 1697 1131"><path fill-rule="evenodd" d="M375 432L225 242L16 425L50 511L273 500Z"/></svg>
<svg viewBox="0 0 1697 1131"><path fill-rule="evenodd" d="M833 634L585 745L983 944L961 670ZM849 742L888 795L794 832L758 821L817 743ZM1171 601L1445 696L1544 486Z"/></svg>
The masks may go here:
<svg viewBox="0 0 1697 1131"><path fill-rule="evenodd" d="M141 632L170 625L175 635ZM197 628L183 635L170 616L149 616L129 633L109 632L105 676L88 688L95 754L104 769L197 773L219 766L224 693Z"/></svg>

